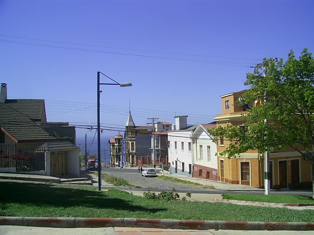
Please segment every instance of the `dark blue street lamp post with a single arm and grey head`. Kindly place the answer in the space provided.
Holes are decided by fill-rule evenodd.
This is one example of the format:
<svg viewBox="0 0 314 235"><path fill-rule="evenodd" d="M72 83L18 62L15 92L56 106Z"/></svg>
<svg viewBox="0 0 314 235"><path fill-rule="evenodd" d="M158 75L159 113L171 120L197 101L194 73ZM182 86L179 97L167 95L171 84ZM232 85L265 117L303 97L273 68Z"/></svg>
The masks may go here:
<svg viewBox="0 0 314 235"><path fill-rule="evenodd" d="M100 74L106 76L111 81L115 83L100 83ZM124 86L132 86L131 82L118 83L112 78L108 77L106 74L102 72L97 72L97 152L98 152L98 190L101 191L101 157L100 157L100 85L119 85L121 87Z"/></svg>

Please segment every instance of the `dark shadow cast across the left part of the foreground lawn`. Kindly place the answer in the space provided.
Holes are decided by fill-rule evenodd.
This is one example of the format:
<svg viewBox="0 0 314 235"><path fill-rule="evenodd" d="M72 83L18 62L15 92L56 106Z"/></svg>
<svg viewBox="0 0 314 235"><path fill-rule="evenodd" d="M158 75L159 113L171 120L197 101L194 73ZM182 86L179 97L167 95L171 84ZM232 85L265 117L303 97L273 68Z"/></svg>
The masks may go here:
<svg viewBox="0 0 314 235"><path fill-rule="evenodd" d="M124 191L100 192L86 189L63 188L32 183L0 183L0 202L32 204L34 206L89 207L143 212L165 211L163 208L148 208L132 205L130 195ZM125 196L125 199L123 197ZM134 203L135 204L135 203Z"/></svg>

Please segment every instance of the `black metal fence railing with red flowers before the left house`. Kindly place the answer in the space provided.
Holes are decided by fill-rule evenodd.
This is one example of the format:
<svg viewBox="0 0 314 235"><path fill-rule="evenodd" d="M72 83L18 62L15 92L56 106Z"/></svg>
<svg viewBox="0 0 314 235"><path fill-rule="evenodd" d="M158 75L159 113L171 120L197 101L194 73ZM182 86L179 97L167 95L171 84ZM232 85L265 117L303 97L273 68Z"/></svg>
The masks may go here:
<svg viewBox="0 0 314 235"><path fill-rule="evenodd" d="M15 172L45 170L45 148L18 148L16 144L0 144L0 168Z"/></svg>

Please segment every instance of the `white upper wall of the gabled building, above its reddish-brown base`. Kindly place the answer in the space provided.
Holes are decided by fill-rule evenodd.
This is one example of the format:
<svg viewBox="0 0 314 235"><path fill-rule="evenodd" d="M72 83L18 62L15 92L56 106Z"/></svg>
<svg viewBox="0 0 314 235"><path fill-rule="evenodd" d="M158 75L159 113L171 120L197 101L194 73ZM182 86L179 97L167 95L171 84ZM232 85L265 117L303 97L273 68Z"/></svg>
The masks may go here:
<svg viewBox="0 0 314 235"><path fill-rule="evenodd" d="M213 142L213 137L200 126L194 131L192 137L194 164L218 169L218 158L215 156L217 145ZM200 155L200 145L203 146L203 160ZM210 147L210 161L208 161L207 146Z"/></svg>

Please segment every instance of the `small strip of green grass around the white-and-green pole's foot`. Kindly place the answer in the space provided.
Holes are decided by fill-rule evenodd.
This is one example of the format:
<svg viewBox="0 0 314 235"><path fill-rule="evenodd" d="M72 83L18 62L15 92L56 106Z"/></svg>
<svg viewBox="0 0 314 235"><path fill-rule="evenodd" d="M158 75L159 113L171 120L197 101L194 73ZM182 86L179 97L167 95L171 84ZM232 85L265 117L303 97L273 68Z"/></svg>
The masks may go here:
<svg viewBox="0 0 314 235"><path fill-rule="evenodd" d="M238 194L224 193L223 199L240 200L240 201L261 201L274 203L314 203L312 197L293 196L293 195L255 195L255 194Z"/></svg>

